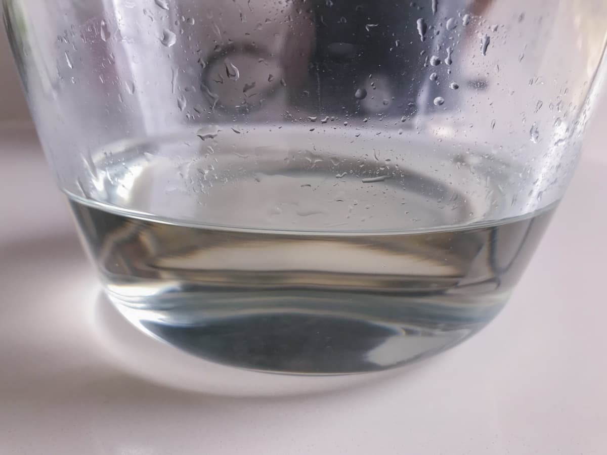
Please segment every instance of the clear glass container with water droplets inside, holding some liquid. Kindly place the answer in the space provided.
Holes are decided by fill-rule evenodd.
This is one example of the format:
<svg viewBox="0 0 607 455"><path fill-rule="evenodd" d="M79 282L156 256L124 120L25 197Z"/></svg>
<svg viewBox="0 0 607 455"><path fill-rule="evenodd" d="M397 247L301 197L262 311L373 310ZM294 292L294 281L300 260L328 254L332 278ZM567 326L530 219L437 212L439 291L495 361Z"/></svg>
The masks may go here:
<svg viewBox="0 0 607 455"><path fill-rule="evenodd" d="M393 368L503 307L602 85L603 0L3 0L112 302L220 365Z"/></svg>

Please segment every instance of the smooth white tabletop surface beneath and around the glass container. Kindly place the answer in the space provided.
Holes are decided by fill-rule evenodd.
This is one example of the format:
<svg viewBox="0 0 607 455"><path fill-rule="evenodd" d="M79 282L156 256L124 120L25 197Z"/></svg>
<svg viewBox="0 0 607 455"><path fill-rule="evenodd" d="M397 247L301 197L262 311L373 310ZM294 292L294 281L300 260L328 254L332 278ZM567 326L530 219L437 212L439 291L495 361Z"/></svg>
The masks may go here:
<svg viewBox="0 0 607 455"><path fill-rule="evenodd" d="M372 385L242 399L132 367L165 347L143 349L151 340L98 301L38 145L0 131L0 454L604 455L601 133L489 328Z"/></svg>

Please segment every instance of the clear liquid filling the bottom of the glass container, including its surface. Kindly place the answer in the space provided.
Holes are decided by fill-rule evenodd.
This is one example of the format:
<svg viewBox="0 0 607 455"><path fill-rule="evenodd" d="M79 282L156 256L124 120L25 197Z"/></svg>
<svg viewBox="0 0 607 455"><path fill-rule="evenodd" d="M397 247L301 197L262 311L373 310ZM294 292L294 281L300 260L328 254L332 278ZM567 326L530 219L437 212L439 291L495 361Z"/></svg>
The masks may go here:
<svg viewBox="0 0 607 455"><path fill-rule="evenodd" d="M553 207L463 224L483 207L499 214L493 188L475 200L470 187L442 186L422 172L439 160L429 148L412 168L326 147L266 148L272 159L245 165L255 147L214 145L178 172L148 156L166 144L124 149L120 166L100 166L97 201L71 205L129 320L237 368L378 371L461 342L503 307ZM447 171L469 172L460 161ZM475 182L489 181L483 169L496 166L476 163Z"/></svg>

